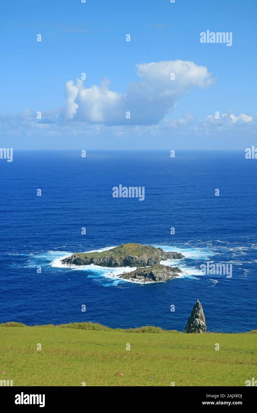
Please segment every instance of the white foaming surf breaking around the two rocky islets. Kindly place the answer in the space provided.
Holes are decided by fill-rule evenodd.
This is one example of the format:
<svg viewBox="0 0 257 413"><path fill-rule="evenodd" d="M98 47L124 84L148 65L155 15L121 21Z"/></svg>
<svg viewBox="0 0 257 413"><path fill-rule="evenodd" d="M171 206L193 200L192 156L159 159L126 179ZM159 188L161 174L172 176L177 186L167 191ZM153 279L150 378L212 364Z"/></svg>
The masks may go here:
<svg viewBox="0 0 257 413"><path fill-rule="evenodd" d="M184 256L185 259L192 259L192 260L208 260L210 259L210 256L214 255L212 251L209 249L200 249L200 248L178 248L178 247L170 247L168 245L156 245L153 244L153 247L155 248L162 248L163 251L165 252L181 252ZM105 247L101 249L94 249L90 251L85 251L85 253L88 252L102 252L102 251L107 251L109 249L116 248L116 246L113 247ZM120 278L119 275L126 273L126 272L132 272L137 269L137 267L116 267L116 268L110 268L110 267L102 267L102 266L97 266L94 264L90 265L83 265L83 266L75 266L71 265L68 266L67 264L62 264L61 260L64 258L67 258L68 256L71 256L71 252L53 252L55 255L54 260L51 261L51 266L52 267L57 267L57 268L69 268L71 271L89 271L92 272L92 275L88 275L89 277L96 277L96 276L102 276L106 277L109 279L116 280L117 282L132 282L132 283L139 283L139 284L151 284L152 282L147 282L145 283L144 281L140 280L127 280L124 278ZM57 254L59 256L57 256ZM177 278L193 278L197 279L197 276L203 275L200 271L200 266L199 268L196 266L188 266L186 265L185 259L171 259L171 260L165 260L165 261L160 261L161 265L167 265L167 266L177 266L182 273L179 274ZM153 283L155 283L153 281Z"/></svg>

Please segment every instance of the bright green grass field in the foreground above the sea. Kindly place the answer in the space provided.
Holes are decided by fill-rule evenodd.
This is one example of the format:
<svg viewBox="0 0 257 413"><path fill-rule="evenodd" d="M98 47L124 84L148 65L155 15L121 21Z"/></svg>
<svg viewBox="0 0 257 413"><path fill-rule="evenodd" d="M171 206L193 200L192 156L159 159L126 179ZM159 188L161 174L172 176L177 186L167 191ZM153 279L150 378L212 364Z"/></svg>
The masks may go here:
<svg viewBox="0 0 257 413"><path fill-rule="evenodd" d="M91 323L6 325L0 325L0 380L14 386L245 386L257 377L256 330L184 334Z"/></svg>

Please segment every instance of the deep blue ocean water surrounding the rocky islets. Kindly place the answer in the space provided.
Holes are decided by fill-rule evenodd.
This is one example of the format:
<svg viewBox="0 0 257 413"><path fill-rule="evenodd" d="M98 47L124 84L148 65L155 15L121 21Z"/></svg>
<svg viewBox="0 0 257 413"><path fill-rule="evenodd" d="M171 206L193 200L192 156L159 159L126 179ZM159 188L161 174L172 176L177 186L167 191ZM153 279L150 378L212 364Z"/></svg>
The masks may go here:
<svg viewBox="0 0 257 413"><path fill-rule="evenodd" d="M209 331L257 328L257 161L244 152L14 151L0 177L0 322L183 330L199 299ZM119 184L144 186L145 200L113 198ZM182 252L183 278L142 285L59 266L125 242ZM200 275L207 260L232 263L232 277Z"/></svg>

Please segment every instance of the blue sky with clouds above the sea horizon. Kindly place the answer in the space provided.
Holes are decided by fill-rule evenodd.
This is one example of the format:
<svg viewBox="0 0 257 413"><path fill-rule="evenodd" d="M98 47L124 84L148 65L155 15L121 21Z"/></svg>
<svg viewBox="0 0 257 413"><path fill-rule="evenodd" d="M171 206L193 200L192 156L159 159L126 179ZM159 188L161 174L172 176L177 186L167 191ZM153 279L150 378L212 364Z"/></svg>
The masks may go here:
<svg viewBox="0 0 257 413"><path fill-rule="evenodd" d="M0 16L1 147L240 149L255 144L255 0L29 0L2 2ZM200 33L207 30L232 32L231 47L200 43ZM194 65L167 63L177 60ZM136 66L152 62L154 68ZM187 67L185 83L175 92L165 83L173 67L177 78ZM66 82L75 85L83 72L86 80L73 99L77 107L67 117L66 100L73 91L65 92ZM104 78L111 83L101 86ZM159 100L167 88L168 97ZM127 123L126 110L131 112Z"/></svg>

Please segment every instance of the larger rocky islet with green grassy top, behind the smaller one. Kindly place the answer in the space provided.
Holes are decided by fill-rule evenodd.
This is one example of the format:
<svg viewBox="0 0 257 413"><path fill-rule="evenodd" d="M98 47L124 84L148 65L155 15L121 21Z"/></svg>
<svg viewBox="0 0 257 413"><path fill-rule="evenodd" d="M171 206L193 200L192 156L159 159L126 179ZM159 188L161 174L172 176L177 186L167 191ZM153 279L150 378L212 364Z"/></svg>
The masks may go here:
<svg viewBox="0 0 257 413"><path fill-rule="evenodd" d="M120 244L118 247L102 252L75 253L61 260L70 265L99 265L102 267L145 267L158 265L167 259L181 259L180 252L165 252L161 248L141 244Z"/></svg>

